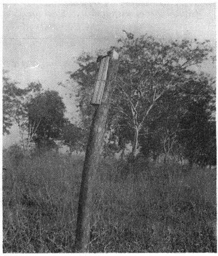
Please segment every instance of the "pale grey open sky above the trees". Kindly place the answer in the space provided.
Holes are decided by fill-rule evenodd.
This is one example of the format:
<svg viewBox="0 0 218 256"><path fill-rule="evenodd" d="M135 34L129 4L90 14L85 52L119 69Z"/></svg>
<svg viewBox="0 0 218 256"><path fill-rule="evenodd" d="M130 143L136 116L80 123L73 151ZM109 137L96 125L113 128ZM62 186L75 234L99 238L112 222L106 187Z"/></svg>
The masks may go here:
<svg viewBox="0 0 218 256"><path fill-rule="evenodd" d="M122 30L163 40L211 40L215 45L215 16L215 4L4 4L3 68L21 87L40 81L45 89L58 90L74 122L76 84L67 81L66 72L76 70L79 55L116 45ZM203 69L215 72L215 67ZM58 86L60 81L67 89ZM18 140L13 126L3 146Z"/></svg>

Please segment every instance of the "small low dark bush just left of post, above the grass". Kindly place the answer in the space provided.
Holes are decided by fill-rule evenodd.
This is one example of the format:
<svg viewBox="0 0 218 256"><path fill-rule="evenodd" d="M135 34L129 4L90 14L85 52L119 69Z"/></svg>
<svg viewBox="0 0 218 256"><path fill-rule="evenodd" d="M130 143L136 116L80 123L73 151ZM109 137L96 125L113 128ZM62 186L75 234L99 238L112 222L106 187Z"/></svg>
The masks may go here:
<svg viewBox="0 0 218 256"><path fill-rule="evenodd" d="M63 144L69 147L70 155L74 150L76 152L84 150L85 137L82 128L68 123L62 129Z"/></svg>

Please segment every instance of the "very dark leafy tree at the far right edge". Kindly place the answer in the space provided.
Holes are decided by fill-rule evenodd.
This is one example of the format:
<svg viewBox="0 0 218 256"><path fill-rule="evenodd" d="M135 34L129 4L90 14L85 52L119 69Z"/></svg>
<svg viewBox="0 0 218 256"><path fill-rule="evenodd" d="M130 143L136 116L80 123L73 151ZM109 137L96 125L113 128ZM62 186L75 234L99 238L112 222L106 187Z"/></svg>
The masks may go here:
<svg viewBox="0 0 218 256"><path fill-rule="evenodd" d="M189 160L190 166L194 163L208 164L209 144L216 137L213 124L215 110L215 91L211 86L213 83L213 79L203 77L201 74L199 78L188 81L183 87L183 102L187 106L187 111L180 119L179 142L183 146L183 154Z"/></svg>

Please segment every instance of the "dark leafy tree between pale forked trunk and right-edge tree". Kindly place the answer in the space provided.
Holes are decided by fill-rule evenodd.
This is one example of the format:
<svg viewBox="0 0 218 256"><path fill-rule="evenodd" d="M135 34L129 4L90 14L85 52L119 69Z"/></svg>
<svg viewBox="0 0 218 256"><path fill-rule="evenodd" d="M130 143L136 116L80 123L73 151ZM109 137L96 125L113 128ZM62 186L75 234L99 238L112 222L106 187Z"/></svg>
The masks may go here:
<svg viewBox="0 0 218 256"><path fill-rule="evenodd" d="M180 111L177 92L168 90L148 117L145 133L139 134L141 151L145 156L152 154L156 161L159 154L163 153L166 161L169 154L173 154Z"/></svg>

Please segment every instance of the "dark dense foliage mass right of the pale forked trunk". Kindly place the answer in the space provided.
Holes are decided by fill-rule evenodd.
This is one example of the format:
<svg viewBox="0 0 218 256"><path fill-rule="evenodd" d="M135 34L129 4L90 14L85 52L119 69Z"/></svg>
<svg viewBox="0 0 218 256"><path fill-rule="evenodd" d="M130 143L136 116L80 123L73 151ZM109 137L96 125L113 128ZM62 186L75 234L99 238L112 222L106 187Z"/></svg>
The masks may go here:
<svg viewBox="0 0 218 256"><path fill-rule="evenodd" d="M208 151L209 154L200 151L205 151L209 144L216 144L216 139L212 142L215 136L209 132L214 114L213 83L214 80L210 77L200 74L163 95L154 109L154 114L148 118L147 132L140 137L141 150L145 156L152 153L155 157L156 154L164 153L167 158L169 154L179 154L177 148L182 147L183 156L187 159L192 154L196 157L195 162L199 164L203 157L205 161L206 158L209 159L212 151ZM199 121L195 122L197 119ZM214 150L216 151L216 147Z"/></svg>

